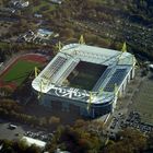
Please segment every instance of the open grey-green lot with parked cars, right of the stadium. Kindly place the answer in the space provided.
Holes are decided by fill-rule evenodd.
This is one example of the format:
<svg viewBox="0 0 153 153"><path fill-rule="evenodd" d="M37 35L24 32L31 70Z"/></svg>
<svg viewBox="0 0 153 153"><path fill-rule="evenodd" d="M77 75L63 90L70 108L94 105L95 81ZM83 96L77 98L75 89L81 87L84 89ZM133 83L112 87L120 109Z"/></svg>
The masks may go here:
<svg viewBox="0 0 153 153"><path fill-rule="evenodd" d="M110 118L107 134L115 137L123 128L140 130L144 134L153 132L152 125L152 86L151 72L141 78L141 71L127 87L126 96L118 101L117 108ZM148 115L148 116L146 116Z"/></svg>

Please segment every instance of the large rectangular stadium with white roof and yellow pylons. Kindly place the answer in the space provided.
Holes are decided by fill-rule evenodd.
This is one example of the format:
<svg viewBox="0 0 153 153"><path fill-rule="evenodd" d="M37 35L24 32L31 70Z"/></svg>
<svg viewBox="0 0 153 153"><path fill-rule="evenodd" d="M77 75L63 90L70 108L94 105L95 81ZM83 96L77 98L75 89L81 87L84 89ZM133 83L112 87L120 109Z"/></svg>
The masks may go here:
<svg viewBox="0 0 153 153"><path fill-rule="evenodd" d="M42 105L57 111L96 118L113 113L127 83L134 78L136 58L127 51L69 44L34 79Z"/></svg>

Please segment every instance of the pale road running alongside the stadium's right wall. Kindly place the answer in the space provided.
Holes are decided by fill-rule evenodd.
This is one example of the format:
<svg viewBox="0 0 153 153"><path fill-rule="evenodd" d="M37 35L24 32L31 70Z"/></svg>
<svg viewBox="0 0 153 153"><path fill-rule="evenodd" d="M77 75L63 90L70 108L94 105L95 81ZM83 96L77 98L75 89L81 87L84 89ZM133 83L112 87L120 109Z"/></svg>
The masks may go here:
<svg viewBox="0 0 153 153"><path fill-rule="evenodd" d="M130 109L130 105L132 103L132 96L137 92L137 89L139 87L140 83L143 81L144 78L140 76L141 71L137 71L137 75L134 80L131 80L131 82L127 85L127 92L126 95L118 99L117 106L115 111L109 117L109 125L106 128L108 133L116 133L120 130L121 122L127 118Z"/></svg>

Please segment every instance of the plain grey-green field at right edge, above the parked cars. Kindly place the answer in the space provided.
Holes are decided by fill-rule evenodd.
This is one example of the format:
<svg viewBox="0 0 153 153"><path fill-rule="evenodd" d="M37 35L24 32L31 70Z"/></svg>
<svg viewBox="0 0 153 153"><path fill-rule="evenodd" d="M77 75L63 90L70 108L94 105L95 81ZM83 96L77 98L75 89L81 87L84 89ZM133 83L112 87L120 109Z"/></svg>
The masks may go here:
<svg viewBox="0 0 153 153"><path fill-rule="evenodd" d="M133 110L140 113L142 121L153 123L153 79L142 82L133 102Z"/></svg>

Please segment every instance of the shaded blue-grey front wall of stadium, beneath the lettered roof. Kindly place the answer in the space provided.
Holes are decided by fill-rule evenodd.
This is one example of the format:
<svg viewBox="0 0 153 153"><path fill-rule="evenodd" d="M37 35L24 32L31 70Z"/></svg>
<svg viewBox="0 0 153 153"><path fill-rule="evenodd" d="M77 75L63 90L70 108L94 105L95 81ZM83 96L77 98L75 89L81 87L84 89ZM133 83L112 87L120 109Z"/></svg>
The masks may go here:
<svg viewBox="0 0 153 153"><path fill-rule="evenodd" d="M91 118L99 117L111 113L114 104L114 101L107 102L105 104L92 104L90 109L87 110L87 103L85 104L81 103L80 101L70 101L68 98L60 98L48 94L43 94L39 102L40 105L44 105L49 109L58 109L59 111L61 110L74 114L74 110L70 108L70 106L73 105L74 107L79 108L79 111L75 111L78 115ZM60 107L52 106L52 103L59 103Z"/></svg>

